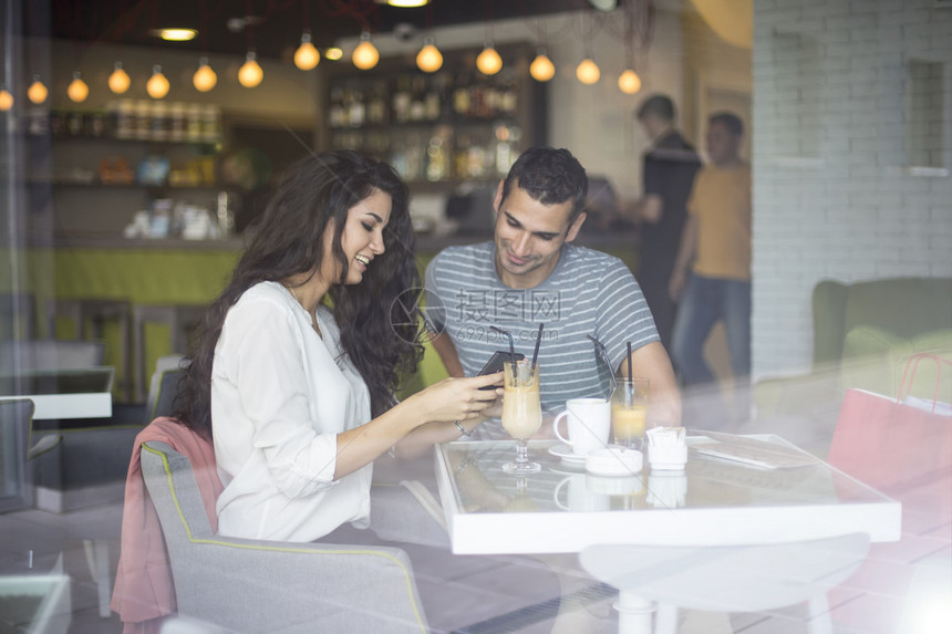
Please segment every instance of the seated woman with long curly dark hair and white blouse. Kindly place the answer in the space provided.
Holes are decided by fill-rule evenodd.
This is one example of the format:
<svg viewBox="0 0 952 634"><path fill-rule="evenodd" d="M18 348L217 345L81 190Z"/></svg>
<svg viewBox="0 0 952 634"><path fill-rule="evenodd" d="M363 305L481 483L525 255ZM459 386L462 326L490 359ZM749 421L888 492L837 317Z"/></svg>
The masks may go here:
<svg viewBox="0 0 952 634"><path fill-rule="evenodd" d="M213 439L221 534L364 527L374 458L478 424L497 397L479 387L501 375L393 396L420 357L415 302L400 301L418 287L407 189L390 166L352 152L292 166L208 310L177 403Z"/></svg>

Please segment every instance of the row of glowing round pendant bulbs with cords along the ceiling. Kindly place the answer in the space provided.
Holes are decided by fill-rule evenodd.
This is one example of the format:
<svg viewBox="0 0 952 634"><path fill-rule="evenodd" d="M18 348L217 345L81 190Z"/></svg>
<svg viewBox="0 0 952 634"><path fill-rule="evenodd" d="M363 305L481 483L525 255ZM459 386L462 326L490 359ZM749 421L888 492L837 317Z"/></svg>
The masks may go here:
<svg viewBox="0 0 952 634"><path fill-rule="evenodd" d="M64 0L59 6L68 7L71 11L68 13L72 17L73 24L71 29L81 37L74 41L77 46L75 59L77 67L75 67L70 76L70 82L66 89L66 94L74 103L83 103L90 94L90 86L83 77L83 72L79 67L79 61L82 60L79 48L89 45L89 42L95 42L93 37L96 32L106 32L111 30L111 38L120 41L123 35L132 32L136 23L142 20L143 15L151 13L153 21L153 31L158 42L174 39L190 39L196 35L201 38L201 53L198 56L198 64L192 75L192 83L195 90L199 92L209 92L219 84L218 74L213 70L209 60L208 31L209 25L219 19L223 14L228 0L199 0L196 2L198 13L198 29L177 29L175 33L168 29L161 29L158 21L158 8L162 0L147 0L146 2L132 2L127 7L125 0L117 0L115 7L111 7L108 2L95 2L92 6L79 0ZM537 0L540 1L540 0ZM300 6L298 6L300 2ZM265 77L265 70L258 58L256 49L256 29L267 28L269 20L275 14L280 14L288 10L301 11L301 35L297 49L293 52L293 63L302 72L312 71L318 66L322 59L322 52L314 41L312 32L312 15L311 12L318 10L322 15L345 17L361 24L361 35L356 46L351 52L351 62L361 70L366 71L376 66L380 61L380 52L374 46L373 33L375 25L380 21L380 2L381 0L268 0L267 2L257 2L259 6L256 9L256 2L252 0L244 0L245 17L240 19L242 22L237 28L244 29L247 40L247 52L245 61L237 73L237 81L242 86L255 89L259 86ZM426 0L390 0L387 2L394 7L417 7L427 4ZM28 2L28 7L31 3ZM114 22L108 25L108 29L103 29L105 15L114 9L116 15ZM524 8L525 9L525 8ZM504 60L496 50L494 38L494 4L493 0L484 0L485 12L485 38L483 50L476 58L476 69L486 76L491 76L498 73L504 65ZM576 76L583 84L594 84L601 80L601 70L596 63L593 41L597 37L604 33L613 39L621 40L624 45L624 69L618 76L619 90L627 94L634 94L641 87L641 79L637 73L638 60L650 46L652 37L652 15L653 0L630 0L621 2L611 12L593 11L591 9L578 12L566 13L561 23L557 28L552 28L556 18L539 15L541 12L527 11L538 17L526 18L526 27L534 34L537 41L537 54L530 64L530 75L538 82L548 82L556 75L556 66L551 58L549 58L550 42L565 41L567 35L578 38L582 42L582 60L576 67ZM621 20L619 20L621 13ZM63 19L62 14L58 19ZM235 19L229 20L231 22ZM29 15L28 15L29 31ZM434 73L443 66L443 53L436 45L434 34L433 3L427 7L426 29L422 34L422 45L415 56L417 67L426 73ZM28 32L29 34L29 32ZM82 42L86 42L83 44ZM156 60L152 66L152 73L146 82L146 92L152 98L164 98L170 89L169 79L163 73L162 63L158 60L161 54L161 44L156 46ZM132 83L133 77L130 76L128 70L124 66L121 54L116 54L113 62L112 72L108 74L107 87L116 95L125 94ZM343 56L343 51L337 46L323 49L323 58L335 61ZM234 72L234 71L232 71ZM24 72L23 75L29 77L29 87L25 91L27 97L32 104L43 104L49 97L49 82L38 72ZM15 91L9 85L9 81L4 81L0 86L0 106L7 106L9 110L14 104Z"/></svg>

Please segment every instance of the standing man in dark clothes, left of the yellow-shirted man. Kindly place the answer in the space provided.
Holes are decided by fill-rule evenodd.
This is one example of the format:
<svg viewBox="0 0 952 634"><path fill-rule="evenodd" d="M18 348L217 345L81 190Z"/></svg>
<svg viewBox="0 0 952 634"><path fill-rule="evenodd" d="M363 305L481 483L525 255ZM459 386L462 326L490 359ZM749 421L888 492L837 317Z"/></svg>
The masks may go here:
<svg viewBox="0 0 952 634"><path fill-rule="evenodd" d="M629 214L641 222L635 278L670 355L677 302L668 289L687 217L687 196L701 159L674 128L674 104L666 95L648 97L635 117L651 139L651 149L643 159L643 196L629 208Z"/></svg>

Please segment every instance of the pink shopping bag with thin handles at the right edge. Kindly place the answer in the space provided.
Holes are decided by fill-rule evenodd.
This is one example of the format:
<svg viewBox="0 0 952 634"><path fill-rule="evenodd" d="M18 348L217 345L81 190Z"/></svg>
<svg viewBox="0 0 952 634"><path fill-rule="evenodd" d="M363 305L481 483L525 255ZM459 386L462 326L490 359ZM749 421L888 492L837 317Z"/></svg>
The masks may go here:
<svg viewBox="0 0 952 634"><path fill-rule="evenodd" d="M917 354L906 365L897 398L847 389L827 461L902 502L903 533L922 534L952 522L952 417L938 399L906 399L922 362L952 364Z"/></svg>

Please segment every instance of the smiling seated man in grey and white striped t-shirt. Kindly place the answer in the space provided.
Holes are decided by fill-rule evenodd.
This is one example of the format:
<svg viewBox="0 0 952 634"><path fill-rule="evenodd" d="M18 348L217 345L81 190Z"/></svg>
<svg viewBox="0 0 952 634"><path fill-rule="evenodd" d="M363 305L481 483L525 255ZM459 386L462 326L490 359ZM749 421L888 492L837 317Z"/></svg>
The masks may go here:
<svg viewBox="0 0 952 634"><path fill-rule="evenodd" d="M584 222L588 178L567 149L526 150L499 184L489 242L444 249L426 269L433 345L452 376L472 376L509 342L531 357L539 323L542 408L608 396L609 372L651 380L649 425L680 425L671 362L631 271L618 258L572 245ZM604 344L604 367L587 335ZM628 358L628 343L631 358ZM547 429L544 426L542 429Z"/></svg>

